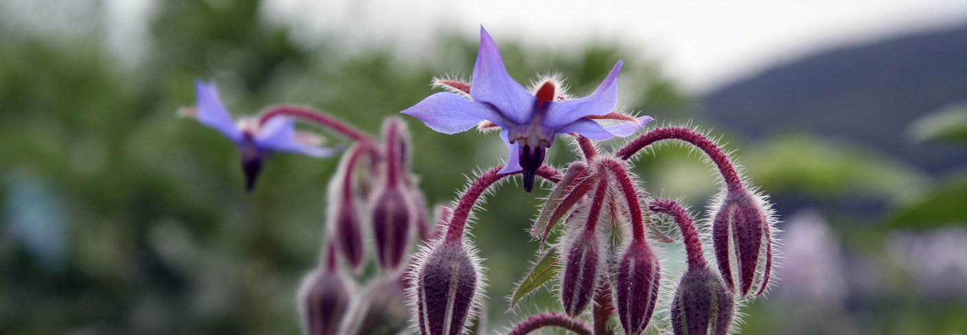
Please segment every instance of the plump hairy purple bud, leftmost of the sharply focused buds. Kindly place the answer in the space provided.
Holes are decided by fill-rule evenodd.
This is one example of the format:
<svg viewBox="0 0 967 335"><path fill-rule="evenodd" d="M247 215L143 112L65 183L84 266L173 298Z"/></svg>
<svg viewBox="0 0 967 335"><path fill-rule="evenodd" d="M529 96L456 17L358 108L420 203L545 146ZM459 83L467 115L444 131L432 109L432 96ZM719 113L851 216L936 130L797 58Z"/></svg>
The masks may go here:
<svg viewBox="0 0 967 335"><path fill-rule="evenodd" d="M444 240L414 267L417 324L423 335L459 335L476 305L479 266L458 241Z"/></svg>

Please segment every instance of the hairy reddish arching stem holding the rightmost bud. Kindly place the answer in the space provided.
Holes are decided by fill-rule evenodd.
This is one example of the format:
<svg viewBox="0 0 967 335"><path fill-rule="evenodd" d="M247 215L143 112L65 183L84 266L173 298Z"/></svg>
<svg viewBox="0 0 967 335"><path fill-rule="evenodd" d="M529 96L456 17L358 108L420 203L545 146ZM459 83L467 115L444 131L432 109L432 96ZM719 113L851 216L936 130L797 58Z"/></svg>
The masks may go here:
<svg viewBox="0 0 967 335"><path fill-rule="evenodd" d="M732 162L729 161L728 155L723 153L715 142L712 142L712 140L710 140L708 137L705 137L704 135L689 128L680 126L666 126L653 129L652 131L646 132L629 142L615 155L627 160L645 147L663 140L685 141L695 147L698 147L698 149L701 149L702 152L708 154L709 158L716 163L718 172L721 173L722 179L725 181L725 185L728 187L730 192L743 189L742 179L740 179L739 174L735 172L735 167L732 166Z"/></svg>

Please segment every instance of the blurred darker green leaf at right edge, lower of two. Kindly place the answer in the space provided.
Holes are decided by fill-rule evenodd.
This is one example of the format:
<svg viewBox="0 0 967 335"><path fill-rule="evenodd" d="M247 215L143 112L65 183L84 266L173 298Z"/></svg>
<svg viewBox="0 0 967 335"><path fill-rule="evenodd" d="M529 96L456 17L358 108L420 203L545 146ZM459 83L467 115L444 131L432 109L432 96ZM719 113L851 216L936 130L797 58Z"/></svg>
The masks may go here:
<svg viewBox="0 0 967 335"><path fill-rule="evenodd" d="M937 181L923 195L896 209L886 223L921 229L967 225L967 173Z"/></svg>

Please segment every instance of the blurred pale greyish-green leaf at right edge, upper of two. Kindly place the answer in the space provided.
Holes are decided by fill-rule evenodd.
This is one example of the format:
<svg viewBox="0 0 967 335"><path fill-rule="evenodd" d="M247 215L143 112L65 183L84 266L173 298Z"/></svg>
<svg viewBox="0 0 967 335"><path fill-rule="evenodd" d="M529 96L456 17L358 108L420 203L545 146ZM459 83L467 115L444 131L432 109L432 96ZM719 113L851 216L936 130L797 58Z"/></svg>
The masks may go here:
<svg viewBox="0 0 967 335"><path fill-rule="evenodd" d="M910 134L919 142L967 145L967 104L953 105L921 117L910 126Z"/></svg>

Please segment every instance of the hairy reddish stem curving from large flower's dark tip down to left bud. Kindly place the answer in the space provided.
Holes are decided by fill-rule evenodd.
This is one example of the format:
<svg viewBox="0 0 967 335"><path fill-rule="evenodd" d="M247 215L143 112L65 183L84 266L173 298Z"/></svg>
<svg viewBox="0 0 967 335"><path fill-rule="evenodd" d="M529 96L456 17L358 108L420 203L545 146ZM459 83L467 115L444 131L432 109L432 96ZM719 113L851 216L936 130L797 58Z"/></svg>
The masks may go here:
<svg viewBox="0 0 967 335"><path fill-rule="evenodd" d="M456 204L454 209L454 214L450 219L450 225L447 227L447 241L459 242L463 238L463 228L466 226L467 217L470 216L470 210L474 209L477 205L477 200L484 195L484 191L494 184L494 182L500 181L504 178L520 174L521 171L509 173L509 174L498 174L503 165L498 165L495 168L490 169L476 181L467 187L467 190L463 192L463 196L460 197L460 202ZM551 181L558 182L561 181L561 173L547 165L541 165L538 168L537 175L541 178Z"/></svg>

